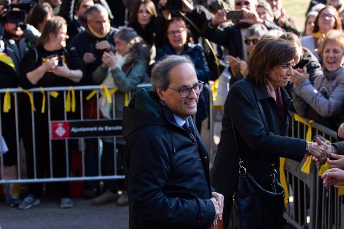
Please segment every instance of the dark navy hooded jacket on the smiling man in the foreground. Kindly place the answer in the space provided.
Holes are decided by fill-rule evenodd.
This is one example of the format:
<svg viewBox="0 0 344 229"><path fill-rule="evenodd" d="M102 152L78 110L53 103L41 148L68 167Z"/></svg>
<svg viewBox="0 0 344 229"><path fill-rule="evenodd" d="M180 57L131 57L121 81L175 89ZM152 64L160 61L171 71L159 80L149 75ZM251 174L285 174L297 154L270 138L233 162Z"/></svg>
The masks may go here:
<svg viewBox="0 0 344 229"><path fill-rule="evenodd" d="M188 120L191 123L191 117ZM151 88L139 90L124 107L130 229L211 225L215 209L209 200L208 154L194 124L190 125L191 131L180 127Z"/></svg>

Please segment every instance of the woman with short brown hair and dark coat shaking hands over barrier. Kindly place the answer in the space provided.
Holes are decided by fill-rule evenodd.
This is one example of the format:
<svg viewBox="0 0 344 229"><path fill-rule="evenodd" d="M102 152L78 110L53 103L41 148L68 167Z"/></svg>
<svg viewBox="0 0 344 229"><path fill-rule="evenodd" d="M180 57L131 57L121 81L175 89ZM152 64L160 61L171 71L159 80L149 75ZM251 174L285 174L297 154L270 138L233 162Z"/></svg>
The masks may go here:
<svg viewBox="0 0 344 229"><path fill-rule="evenodd" d="M314 158L316 161L326 161L324 146L286 137L291 98L283 87L293 74L295 54L295 49L281 38L260 40L248 57L249 74L229 90L224 104L221 139L211 170L211 184L224 196L224 228L238 223L236 219L231 221L232 196L239 178L238 153L242 166L265 190L271 190L270 174L273 167L280 167L280 157L301 161L312 154L321 158L321 161ZM276 178L279 179L278 174ZM255 220L260 213L252 209L247 214L252 214L255 220L248 223L254 228L281 229L284 211L281 201L280 209L270 210L271 215L281 214L279 220L270 219L271 222L258 225ZM271 209L271 206L266 208ZM269 214L269 210L265 213Z"/></svg>

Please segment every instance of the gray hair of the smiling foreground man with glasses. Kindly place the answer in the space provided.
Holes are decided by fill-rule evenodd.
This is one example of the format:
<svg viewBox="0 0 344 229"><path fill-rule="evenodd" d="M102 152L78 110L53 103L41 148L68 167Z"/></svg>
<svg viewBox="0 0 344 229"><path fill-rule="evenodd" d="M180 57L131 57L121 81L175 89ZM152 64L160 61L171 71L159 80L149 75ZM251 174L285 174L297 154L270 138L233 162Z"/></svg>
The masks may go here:
<svg viewBox="0 0 344 229"><path fill-rule="evenodd" d="M151 83L152 83L154 92L156 92L157 88L161 88L163 91L168 89L171 83L171 77L170 77L171 69L182 63L188 63L194 69L194 65L190 57L183 56L183 55L165 56L161 61L155 64L152 70L152 77L151 77ZM183 74L183 73L181 72L180 74Z"/></svg>

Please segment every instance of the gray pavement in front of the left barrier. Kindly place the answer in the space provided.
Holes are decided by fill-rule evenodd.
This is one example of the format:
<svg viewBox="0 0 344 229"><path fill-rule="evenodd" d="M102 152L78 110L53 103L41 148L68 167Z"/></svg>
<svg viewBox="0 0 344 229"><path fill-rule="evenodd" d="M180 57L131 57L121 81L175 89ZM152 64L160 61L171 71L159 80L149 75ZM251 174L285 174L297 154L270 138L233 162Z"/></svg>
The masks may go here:
<svg viewBox="0 0 344 229"><path fill-rule="evenodd" d="M128 229L129 208L115 202L95 206L92 200L72 199L74 207L60 209L58 200L43 196L28 210L5 206L0 201L0 229Z"/></svg>

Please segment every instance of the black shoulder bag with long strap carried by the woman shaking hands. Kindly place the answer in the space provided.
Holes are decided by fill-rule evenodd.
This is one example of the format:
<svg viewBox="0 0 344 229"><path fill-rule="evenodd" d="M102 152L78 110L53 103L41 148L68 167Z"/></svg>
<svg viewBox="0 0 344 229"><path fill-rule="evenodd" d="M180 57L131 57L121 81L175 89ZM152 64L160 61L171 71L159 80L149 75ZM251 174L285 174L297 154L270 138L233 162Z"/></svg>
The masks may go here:
<svg viewBox="0 0 344 229"><path fill-rule="evenodd" d="M265 128L268 130L262 106L259 101L257 102ZM238 150L240 173L237 191L233 193L233 229L281 229L285 191L276 178L277 171L274 168L274 164L270 160L271 187L269 190L265 190L243 166L233 121L231 123Z"/></svg>

